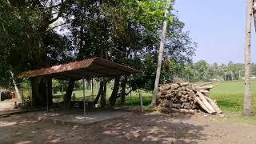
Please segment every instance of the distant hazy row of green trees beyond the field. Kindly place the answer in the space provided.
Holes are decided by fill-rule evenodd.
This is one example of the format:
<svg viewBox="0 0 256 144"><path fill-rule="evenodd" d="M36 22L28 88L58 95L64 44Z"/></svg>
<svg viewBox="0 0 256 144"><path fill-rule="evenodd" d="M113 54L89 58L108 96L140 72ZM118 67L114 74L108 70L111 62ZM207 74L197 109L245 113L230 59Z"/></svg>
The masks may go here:
<svg viewBox="0 0 256 144"><path fill-rule="evenodd" d="M206 61L186 63L185 70L182 70L179 78L190 82L210 82L210 81L232 81L239 80L244 76L244 64L229 62L227 65L208 64ZM254 63L251 64L251 73L255 75Z"/></svg>

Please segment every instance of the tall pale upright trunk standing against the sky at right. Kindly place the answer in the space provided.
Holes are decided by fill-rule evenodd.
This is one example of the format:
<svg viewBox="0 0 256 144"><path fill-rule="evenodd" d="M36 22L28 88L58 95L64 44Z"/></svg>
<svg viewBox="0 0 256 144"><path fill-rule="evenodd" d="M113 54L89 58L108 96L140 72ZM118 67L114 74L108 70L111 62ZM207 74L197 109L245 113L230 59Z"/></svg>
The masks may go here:
<svg viewBox="0 0 256 144"><path fill-rule="evenodd" d="M245 98L243 114L251 115L251 96L250 96L250 38L251 38L251 18L253 13L253 0L247 0L246 16L246 46L245 46Z"/></svg>

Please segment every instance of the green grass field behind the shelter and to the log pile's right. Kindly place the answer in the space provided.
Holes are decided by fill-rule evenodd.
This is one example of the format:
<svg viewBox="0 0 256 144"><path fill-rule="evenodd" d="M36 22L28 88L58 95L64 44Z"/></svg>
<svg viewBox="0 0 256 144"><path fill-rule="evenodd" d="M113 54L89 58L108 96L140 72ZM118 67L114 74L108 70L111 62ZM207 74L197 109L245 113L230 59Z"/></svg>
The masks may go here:
<svg viewBox="0 0 256 144"><path fill-rule="evenodd" d="M217 117L219 121L227 122L242 122L242 123L252 123L256 124L256 116L246 117L242 115L243 109L243 99L244 99L244 82L243 81L232 81L232 82L218 82L215 84L214 89L210 90L210 98L215 99L218 102L218 106L222 109L223 114L226 117ZM251 94L253 100L253 111L256 114L256 80L251 81ZM106 91L106 102L110 98L112 90L110 87ZM143 104L147 106L151 102L152 93L143 91ZM82 90L74 90L76 100L82 100L83 94ZM94 98L98 94L98 90L94 90ZM62 101L62 94L58 93L54 95L54 101ZM91 90L86 90L86 101L93 101L91 96ZM120 99L117 100L116 105L120 104ZM138 97L138 91L132 92L132 97L130 99L130 94L126 97L126 106L139 106L140 101Z"/></svg>

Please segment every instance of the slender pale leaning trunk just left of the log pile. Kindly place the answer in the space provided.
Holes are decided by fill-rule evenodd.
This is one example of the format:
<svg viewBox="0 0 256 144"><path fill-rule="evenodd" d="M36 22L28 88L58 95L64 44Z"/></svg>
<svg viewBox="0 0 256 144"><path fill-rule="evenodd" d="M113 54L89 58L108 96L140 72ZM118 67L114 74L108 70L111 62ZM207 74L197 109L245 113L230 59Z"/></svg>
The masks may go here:
<svg viewBox="0 0 256 144"><path fill-rule="evenodd" d="M168 1L167 5L168 5L168 7L170 6L170 1ZM169 11L167 10L168 7L166 7L165 16L167 16L167 14L169 13ZM164 46L166 43L166 29L167 29L167 20L165 20L163 22L163 26L162 26L162 38L161 38L159 54L158 54L158 68L157 68L157 72L156 72L156 76L155 76L154 95L153 95L152 103L151 103L153 106L156 106L156 104L157 104L158 85L159 85L159 79L160 79L161 67L162 67L162 54L163 54Z"/></svg>

